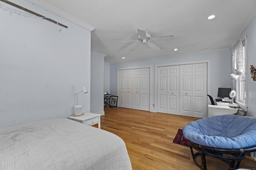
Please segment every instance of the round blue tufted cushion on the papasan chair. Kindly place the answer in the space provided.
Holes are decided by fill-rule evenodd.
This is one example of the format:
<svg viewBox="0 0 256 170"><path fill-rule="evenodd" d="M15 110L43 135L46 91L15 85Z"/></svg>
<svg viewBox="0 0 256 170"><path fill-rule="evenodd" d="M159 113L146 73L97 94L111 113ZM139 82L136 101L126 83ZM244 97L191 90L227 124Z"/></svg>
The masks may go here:
<svg viewBox="0 0 256 170"><path fill-rule="evenodd" d="M192 121L183 128L184 137L198 145L219 149L256 146L256 119L238 115L216 115Z"/></svg>

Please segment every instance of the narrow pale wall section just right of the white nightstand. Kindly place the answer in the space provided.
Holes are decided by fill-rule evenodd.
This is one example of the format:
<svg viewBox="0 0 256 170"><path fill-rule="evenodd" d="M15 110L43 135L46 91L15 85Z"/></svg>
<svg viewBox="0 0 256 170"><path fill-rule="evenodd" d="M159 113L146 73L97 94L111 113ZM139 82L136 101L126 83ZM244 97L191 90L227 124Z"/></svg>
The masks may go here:
<svg viewBox="0 0 256 170"><path fill-rule="evenodd" d="M91 54L91 112L104 115L104 57Z"/></svg>

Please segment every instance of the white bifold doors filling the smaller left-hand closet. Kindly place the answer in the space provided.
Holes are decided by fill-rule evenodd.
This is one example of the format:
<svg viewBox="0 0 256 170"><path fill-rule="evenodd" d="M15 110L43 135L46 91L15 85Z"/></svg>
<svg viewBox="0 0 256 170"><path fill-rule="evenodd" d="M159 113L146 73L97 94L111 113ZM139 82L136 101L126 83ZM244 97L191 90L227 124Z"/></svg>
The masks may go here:
<svg viewBox="0 0 256 170"><path fill-rule="evenodd" d="M119 107L149 111L149 85L149 68L119 70Z"/></svg>

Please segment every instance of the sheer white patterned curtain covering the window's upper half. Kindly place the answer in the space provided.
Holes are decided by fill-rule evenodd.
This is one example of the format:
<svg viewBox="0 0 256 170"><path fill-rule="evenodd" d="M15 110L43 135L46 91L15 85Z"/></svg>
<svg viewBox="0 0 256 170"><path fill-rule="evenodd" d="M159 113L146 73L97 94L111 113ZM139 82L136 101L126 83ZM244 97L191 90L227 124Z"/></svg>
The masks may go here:
<svg viewBox="0 0 256 170"><path fill-rule="evenodd" d="M246 42L246 37L240 39L233 48L233 73L242 75L244 73L243 50Z"/></svg>

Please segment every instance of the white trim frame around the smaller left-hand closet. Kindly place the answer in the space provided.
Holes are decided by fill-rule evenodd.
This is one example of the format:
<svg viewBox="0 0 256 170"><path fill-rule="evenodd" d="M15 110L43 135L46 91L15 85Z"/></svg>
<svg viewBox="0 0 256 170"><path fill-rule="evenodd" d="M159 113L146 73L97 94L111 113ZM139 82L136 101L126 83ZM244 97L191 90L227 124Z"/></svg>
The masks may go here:
<svg viewBox="0 0 256 170"><path fill-rule="evenodd" d="M118 93L118 72L119 70L130 70L130 69L140 69L140 68L149 68L149 75L150 75L150 86L149 86L149 111L154 111L154 108L152 108L152 66L135 66L135 67L126 67L126 68L116 68L116 94ZM119 107L119 106L117 106Z"/></svg>

